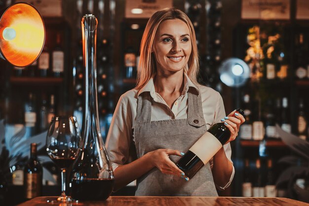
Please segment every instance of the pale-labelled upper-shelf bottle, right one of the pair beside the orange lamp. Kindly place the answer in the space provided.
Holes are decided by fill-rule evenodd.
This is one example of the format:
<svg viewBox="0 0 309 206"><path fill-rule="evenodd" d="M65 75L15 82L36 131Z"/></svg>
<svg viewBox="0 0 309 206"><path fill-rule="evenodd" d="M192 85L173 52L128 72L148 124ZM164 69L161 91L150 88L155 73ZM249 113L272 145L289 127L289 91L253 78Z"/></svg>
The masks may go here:
<svg viewBox="0 0 309 206"><path fill-rule="evenodd" d="M64 71L64 52L61 46L61 34L57 33L57 44L52 52L52 71L55 77L62 77Z"/></svg>

